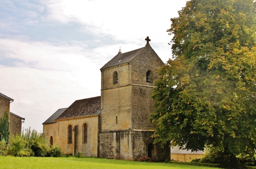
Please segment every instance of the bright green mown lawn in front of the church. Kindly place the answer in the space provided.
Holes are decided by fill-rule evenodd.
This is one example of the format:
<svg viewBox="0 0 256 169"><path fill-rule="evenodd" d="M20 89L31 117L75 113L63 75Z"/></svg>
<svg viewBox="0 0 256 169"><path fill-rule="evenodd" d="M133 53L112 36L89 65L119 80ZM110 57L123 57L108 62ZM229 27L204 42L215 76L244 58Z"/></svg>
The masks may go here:
<svg viewBox="0 0 256 169"><path fill-rule="evenodd" d="M206 166L184 165L182 163L146 163L103 158L53 158L0 156L0 169L214 169Z"/></svg>

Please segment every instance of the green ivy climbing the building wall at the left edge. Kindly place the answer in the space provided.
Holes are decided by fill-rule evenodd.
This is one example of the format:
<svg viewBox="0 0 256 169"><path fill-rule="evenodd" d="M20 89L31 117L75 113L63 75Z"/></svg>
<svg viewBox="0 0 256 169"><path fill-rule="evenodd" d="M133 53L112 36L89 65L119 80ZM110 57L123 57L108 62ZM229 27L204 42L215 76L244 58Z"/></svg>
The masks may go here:
<svg viewBox="0 0 256 169"><path fill-rule="evenodd" d="M7 111L5 111L4 115L0 118L0 141L4 140L8 142L9 135L9 115Z"/></svg>

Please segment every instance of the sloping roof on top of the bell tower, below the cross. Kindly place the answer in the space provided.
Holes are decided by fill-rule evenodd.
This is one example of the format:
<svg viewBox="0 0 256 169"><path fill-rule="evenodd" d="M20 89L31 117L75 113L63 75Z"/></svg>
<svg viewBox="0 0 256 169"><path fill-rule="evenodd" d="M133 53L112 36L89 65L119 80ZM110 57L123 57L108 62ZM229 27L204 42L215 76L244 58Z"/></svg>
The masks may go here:
<svg viewBox="0 0 256 169"><path fill-rule="evenodd" d="M118 53L114 58L112 58L109 62L107 62L101 69L105 69L105 68L109 68L112 66L117 66L117 65L121 65L123 63L127 63L130 62L137 54L139 54L143 49L136 49L136 50L132 50L130 52L126 52L126 53Z"/></svg>

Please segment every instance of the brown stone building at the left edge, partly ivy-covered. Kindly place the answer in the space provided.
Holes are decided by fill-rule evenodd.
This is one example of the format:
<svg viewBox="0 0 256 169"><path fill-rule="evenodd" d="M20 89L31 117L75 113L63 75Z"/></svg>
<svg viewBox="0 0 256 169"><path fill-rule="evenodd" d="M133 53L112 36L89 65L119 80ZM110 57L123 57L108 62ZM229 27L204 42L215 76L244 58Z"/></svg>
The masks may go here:
<svg viewBox="0 0 256 169"><path fill-rule="evenodd" d="M8 113L10 122L9 130L10 133L15 136L16 134L21 134L21 124L25 121L25 119L10 112L10 103L13 101L14 100L10 97L0 93L0 117L2 117L5 112Z"/></svg>

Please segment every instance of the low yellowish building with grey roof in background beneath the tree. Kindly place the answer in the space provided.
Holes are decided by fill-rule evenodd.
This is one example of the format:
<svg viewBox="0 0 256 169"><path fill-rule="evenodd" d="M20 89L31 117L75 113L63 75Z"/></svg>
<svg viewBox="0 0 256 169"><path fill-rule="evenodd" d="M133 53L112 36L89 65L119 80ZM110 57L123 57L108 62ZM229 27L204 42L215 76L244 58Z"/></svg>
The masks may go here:
<svg viewBox="0 0 256 169"><path fill-rule="evenodd" d="M204 151L191 151L191 150L182 150L179 146L171 148L171 160L174 161L190 161L196 157L203 157Z"/></svg>

